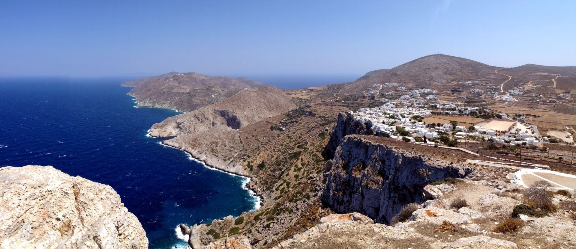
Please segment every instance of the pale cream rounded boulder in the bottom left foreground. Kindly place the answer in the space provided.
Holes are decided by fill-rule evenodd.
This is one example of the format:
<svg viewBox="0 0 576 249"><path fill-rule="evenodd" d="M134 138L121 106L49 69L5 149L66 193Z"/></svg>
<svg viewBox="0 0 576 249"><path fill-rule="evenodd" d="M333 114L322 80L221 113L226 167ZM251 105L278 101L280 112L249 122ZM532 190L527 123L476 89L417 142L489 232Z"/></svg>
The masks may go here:
<svg viewBox="0 0 576 249"><path fill-rule="evenodd" d="M52 166L0 168L0 248L148 248L108 185Z"/></svg>

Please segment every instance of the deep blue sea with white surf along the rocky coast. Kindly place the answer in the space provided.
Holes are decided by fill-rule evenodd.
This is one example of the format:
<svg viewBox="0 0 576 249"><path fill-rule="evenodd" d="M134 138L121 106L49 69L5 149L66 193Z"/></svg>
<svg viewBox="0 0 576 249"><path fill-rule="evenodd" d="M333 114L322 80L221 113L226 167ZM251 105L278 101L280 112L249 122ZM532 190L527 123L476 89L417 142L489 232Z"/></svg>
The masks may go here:
<svg viewBox="0 0 576 249"><path fill-rule="evenodd" d="M180 223L209 222L255 208L246 178L191 160L147 137L179 114L135 108L124 79L0 79L0 167L51 165L108 184L146 230L150 248L185 245Z"/></svg>

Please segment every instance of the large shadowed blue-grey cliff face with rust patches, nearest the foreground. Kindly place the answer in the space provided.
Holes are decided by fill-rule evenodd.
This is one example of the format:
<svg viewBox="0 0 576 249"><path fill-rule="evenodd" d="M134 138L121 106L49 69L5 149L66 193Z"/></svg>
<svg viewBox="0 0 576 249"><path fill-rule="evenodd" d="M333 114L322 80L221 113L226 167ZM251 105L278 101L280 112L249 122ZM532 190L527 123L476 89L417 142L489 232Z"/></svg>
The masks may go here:
<svg viewBox="0 0 576 249"><path fill-rule="evenodd" d="M471 172L461 163L351 135L336 149L322 200L335 212L359 212L389 223L401 206L425 201L423 187L430 182Z"/></svg>

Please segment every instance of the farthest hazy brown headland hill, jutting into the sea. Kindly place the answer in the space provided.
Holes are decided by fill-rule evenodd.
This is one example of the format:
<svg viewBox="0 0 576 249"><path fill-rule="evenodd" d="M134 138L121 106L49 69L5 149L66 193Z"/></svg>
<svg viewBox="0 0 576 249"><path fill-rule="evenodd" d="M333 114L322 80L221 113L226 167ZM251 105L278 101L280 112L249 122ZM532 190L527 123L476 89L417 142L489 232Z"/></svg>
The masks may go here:
<svg viewBox="0 0 576 249"><path fill-rule="evenodd" d="M238 77L209 76L187 72L153 78L130 91L139 106L172 108L190 112L215 104L249 87L272 87L262 82Z"/></svg>

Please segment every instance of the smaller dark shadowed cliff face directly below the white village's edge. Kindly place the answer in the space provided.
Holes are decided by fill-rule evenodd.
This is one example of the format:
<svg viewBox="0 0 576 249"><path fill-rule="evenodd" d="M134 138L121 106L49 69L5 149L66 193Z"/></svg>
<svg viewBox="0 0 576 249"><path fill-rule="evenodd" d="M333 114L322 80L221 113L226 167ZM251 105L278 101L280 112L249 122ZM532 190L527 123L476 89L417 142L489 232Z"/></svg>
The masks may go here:
<svg viewBox="0 0 576 249"><path fill-rule="evenodd" d="M354 120L352 114L346 113L338 113L338 122L334 127L334 132L332 132L332 136L324 149L324 157L325 158L334 158L334 153L336 152L336 148L342 144L345 136L358 134L358 135L376 135L372 128L372 123L370 121L362 124Z"/></svg>

